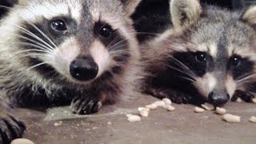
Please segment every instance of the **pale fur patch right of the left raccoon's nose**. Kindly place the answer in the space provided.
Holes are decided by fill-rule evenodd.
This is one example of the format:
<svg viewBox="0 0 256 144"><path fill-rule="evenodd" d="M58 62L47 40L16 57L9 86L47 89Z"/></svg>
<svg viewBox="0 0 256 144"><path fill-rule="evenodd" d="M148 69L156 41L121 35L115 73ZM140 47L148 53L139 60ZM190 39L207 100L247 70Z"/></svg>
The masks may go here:
<svg viewBox="0 0 256 144"><path fill-rule="evenodd" d="M98 78L111 66L112 59L106 47L103 46L101 42L97 41L90 46L90 54L98 65L98 74L96 77Z"/></svg>

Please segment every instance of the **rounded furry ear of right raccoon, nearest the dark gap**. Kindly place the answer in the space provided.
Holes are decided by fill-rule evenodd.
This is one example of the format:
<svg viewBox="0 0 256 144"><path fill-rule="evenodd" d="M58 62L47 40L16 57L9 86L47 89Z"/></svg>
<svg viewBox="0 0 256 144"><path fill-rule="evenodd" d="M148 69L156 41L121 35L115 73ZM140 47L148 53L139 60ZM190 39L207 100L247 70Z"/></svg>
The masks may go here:
<svg viewBox="0 0 256 144"><path fill-rule="evenodd" d="M189 26L202 13L202 7L198 0L171 0L170 14L174 24L174 29L181 29L184 26Z"/></svg>

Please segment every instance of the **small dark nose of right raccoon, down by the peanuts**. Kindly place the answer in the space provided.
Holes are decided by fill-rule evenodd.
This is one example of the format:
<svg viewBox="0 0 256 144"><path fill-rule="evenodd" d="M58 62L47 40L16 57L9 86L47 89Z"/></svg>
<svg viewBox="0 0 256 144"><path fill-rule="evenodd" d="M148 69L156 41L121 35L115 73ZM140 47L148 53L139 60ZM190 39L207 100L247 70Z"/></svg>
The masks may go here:
<svg viewBox="0 0 256 144"><path fill-rule="evenodd" d="M209 101L214 105L214 106L222 106L226 102L229 102L230 100L230 95L229 94L222 94L218 93L216 91L211 92L208 95Z"/></svg>

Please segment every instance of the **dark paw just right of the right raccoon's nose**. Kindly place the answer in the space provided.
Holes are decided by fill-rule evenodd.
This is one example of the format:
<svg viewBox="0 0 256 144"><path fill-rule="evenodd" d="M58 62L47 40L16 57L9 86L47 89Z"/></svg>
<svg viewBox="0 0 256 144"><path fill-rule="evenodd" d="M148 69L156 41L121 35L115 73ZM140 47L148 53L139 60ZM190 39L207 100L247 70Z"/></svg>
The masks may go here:
<svg viewBox="0 0 256 144"><path fill-rule="evenodd" d="M232 102L235 102L238 98L241 98L244 102L253 102L254 94L243 90L236 90L233 97L231 98Z"/></svg>

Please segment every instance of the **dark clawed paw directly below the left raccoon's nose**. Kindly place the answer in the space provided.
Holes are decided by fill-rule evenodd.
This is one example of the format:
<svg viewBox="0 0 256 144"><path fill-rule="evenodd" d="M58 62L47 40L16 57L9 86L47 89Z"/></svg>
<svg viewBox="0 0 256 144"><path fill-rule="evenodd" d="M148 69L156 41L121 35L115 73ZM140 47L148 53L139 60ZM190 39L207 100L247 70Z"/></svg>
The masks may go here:
<svg viewBox="0 0 256 144"><path fill-rule="evenodd" d="M71 102L71 109L74 114L94 114L102 107L102 102L92 98L74 98Z"/></svg>

